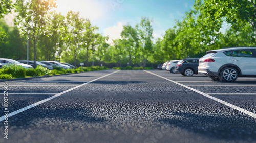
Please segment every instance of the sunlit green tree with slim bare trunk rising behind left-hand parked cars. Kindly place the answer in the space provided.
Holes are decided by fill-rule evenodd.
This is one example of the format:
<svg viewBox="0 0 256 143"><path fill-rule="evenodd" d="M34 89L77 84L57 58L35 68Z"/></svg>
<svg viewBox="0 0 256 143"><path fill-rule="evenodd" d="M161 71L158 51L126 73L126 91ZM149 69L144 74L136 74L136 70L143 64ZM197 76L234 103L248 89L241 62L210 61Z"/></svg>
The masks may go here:
<svg viewBox="0 0 256 143"><path fill-rule="evenodd" d="M17 16L15 23L22 35L30 35L34 45L34 68L36 67L36 42L38 35L44 34L45 15L56 7L54 0L16 0L15 12Z"/></svg>

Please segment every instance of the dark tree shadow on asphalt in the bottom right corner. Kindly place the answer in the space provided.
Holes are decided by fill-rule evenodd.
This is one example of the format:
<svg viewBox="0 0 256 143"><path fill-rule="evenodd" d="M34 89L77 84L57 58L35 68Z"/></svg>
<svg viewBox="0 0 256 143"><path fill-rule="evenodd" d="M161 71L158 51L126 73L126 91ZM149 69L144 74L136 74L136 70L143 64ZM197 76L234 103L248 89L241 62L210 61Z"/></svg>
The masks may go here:
<svg viewBox="0 0 256 143"><path fill-rule="evenodd" d="M161 118L158 122L199 133L208 138L227 141L256 140L255 120L249 118L207 116L192 113L174 112L173 117Z"/></svg>

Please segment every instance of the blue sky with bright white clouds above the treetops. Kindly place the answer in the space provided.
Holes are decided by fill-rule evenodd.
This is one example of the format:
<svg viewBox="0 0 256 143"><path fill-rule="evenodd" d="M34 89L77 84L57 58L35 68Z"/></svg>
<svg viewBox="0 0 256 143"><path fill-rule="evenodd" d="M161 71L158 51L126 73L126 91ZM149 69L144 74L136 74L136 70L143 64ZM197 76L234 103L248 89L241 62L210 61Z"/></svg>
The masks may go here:
<svg viewBox="0 0 256 143"><path fill-rule="evenodd" d="M182 20L185 12L194 4L193 0L57 0L57 12L80 13L80 18L89 18L92 25L99 27L98 33L110 39L120 38L124 25L135 26L141 17L152 22L154 39L163 37L165 31Z"/></svg>

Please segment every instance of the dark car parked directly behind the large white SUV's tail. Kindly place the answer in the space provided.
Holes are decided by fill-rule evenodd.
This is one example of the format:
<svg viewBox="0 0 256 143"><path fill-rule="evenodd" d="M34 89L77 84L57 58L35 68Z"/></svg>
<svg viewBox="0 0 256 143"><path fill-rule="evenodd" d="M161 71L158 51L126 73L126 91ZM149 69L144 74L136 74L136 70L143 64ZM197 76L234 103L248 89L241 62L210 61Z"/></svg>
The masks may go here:
<svg viewBox="0 0 256 143"><path fill-rule="evenodd" d="M182 59L176 64L175 71L183 76L198 74L198 60L199 58Z"/></svg>

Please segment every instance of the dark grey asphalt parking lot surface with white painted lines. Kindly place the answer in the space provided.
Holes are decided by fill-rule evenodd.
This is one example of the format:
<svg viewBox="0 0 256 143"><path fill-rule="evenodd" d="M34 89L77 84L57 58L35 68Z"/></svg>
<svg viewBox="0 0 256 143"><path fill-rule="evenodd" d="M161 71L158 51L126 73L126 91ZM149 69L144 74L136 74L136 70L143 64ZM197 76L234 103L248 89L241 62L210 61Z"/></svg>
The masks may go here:
<svg viewBox="0 0 256 143"><path fill-rule="evenodd" d="M256 78L101 70L1 86L0 142L256 142Z"/></svg>

